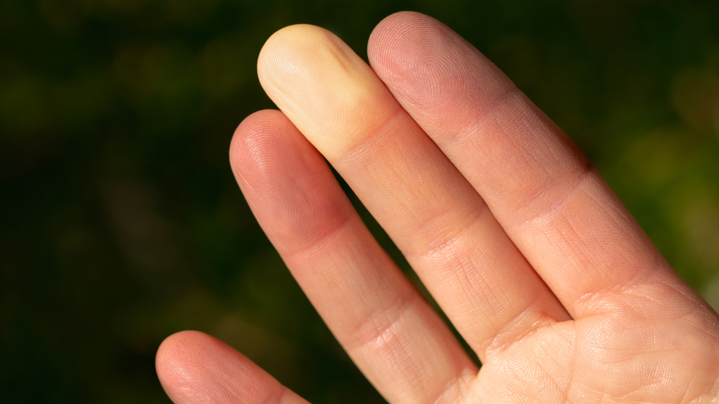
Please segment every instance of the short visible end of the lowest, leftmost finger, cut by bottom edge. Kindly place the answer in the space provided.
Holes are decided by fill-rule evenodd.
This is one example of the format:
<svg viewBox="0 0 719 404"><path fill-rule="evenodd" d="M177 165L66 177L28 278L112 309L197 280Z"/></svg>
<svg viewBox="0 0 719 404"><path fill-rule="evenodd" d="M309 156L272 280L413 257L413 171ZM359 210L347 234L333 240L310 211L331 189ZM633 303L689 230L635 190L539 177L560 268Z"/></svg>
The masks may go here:
<svg viewBox="0 0 719 404"><path fill-rule="evenodd" d="M157 349L157 377L175 404L306 404L231 346L200 331L168 336Z"/></svg>

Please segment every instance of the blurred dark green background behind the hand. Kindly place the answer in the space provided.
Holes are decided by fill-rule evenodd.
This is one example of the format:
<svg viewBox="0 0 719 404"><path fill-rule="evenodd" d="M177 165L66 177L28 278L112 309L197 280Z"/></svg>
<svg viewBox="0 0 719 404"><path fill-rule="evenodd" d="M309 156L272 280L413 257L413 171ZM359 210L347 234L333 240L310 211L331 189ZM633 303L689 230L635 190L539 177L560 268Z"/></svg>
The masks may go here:
<svg viewBox="0 0 719 404"><path fill-rule="evenodd" d="M276 29L319 24L366 57L404 9L505 70L719 307L716 1L2 0L0 401L168 403L155 349L198 329L315 404L382 403L227 152L273 107L255 60Z"/></svg>

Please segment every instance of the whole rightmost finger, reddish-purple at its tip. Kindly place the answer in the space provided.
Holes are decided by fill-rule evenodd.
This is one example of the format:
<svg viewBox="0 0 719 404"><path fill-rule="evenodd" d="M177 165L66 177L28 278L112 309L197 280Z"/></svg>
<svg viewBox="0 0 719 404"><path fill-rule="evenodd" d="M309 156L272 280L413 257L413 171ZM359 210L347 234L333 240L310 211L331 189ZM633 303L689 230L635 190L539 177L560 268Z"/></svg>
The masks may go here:
<svg viewBox="0 0 719 404"><path fill-rule="evenodd" d="M377 25L369 55L574 318L611 305L594 301L603 292L677 283L577 146L462 37L398 13Z"/></svg>

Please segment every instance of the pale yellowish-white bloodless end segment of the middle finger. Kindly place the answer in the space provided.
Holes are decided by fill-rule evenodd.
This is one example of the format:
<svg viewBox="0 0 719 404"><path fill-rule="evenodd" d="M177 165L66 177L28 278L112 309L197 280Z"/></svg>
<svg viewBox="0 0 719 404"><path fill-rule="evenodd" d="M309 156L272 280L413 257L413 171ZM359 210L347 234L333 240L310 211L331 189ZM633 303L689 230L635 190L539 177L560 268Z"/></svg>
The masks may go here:
<svg viewBox="0 0 719 404"><path fill-rule="evenodd" d="M260 51L257 73L270 98L330 161L401 108L362 58L313 25L275 32Z"/></svg>

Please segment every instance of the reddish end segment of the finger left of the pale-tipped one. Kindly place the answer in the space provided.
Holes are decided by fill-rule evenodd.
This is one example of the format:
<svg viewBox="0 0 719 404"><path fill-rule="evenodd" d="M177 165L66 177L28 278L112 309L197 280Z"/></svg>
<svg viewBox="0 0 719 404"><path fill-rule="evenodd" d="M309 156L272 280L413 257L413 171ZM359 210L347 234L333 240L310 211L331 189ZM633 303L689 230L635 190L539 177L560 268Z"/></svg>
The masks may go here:
<svg viewBox="0 0 719 404"><path fill-rule="evenodd" d="M280 252L305 248L353 212L320 153L281 111L247 116L229 159L249 207Z"/></svg>

